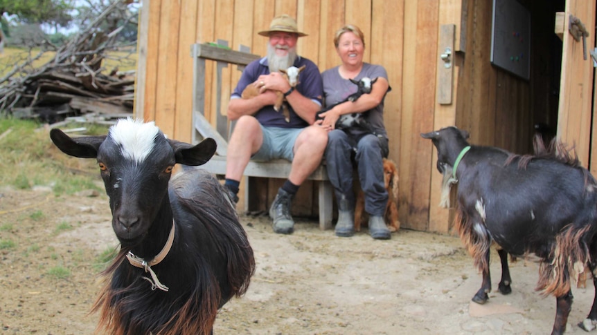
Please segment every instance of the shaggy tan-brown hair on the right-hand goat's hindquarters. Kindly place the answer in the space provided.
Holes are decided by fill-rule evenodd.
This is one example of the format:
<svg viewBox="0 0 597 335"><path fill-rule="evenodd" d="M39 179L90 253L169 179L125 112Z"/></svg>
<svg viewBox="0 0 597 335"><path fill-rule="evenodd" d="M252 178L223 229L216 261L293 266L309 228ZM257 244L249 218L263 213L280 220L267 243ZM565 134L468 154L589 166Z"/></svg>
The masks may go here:
<svg viewBox="0 0 597 335"><path fill-rule="evenodd" d="M580 228L569 224L555 236L555 245L549 255L551 261L541 262L539 267L537 291L563 296L570 290L570 278L576 279L577 287L585 284L586 266L591 262L588 243L596 233L592 227L592 224Z"/></svg>

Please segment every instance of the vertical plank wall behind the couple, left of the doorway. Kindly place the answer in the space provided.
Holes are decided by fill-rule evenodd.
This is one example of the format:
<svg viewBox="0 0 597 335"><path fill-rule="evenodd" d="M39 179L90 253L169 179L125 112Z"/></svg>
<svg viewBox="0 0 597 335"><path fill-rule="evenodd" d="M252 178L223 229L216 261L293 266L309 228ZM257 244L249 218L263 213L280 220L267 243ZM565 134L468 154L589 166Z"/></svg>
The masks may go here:
<svg viewBox="0 0 597 335"><path fill-rule="evenodd" d="M434 128L440 3L443 8L450 4L460 8L460 0L143 1L143 6L149 7L142 10L149 15L149 24L140 35L146 39L147 51L145 68L139 69L145 71L145 83L139 83L139 89L144 88L143 102L138 104L142 109L136 115L155 120L171 138L190 141L190 44L224 39L234 50L242 44L264 55L267 39L257 32L267 29L273 17L285 13L296 17L299 29L309 35L299 40L299 54L325 70L339 64L334 32L345 23L354 23L365 34L365 61L382 64L389 73L392 92L386 97L385 121L390 158L400 169L402 227L427 230L431 173L436 171L431 164L432 146L420 138L420 133ZM205 115L213 123L218 103L220 111L226 111L240 73L236 68L226 68L223 76L222 101L215 102L215 69L208 64L206 77L212 78L213 84L205 87ZM277 184L267 189L272 193ZM310 208L293 208L294 214L317 214L316 196L313 185L301 186L300 198L308 201ZM268 195L268 204L272 197ZM434 229L445 231L438 226L435 224Z"/></svg>

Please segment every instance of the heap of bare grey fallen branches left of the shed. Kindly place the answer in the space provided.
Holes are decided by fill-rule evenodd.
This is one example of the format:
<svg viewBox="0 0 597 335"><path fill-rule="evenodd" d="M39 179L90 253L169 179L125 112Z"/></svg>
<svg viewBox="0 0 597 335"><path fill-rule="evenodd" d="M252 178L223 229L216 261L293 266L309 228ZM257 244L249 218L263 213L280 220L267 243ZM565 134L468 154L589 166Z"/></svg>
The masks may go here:
<svg viewBox="0 0 597 335"><path fill-rule="evenodd" d="M46 41L37 55L32 56L30 50L24 61L17 63L0 78L0 114L10 114L14 108L30 107L35 110L37 106L44 106L45 111L48 105L68 102L66 95L60 97L62 93L107 99L127 108L132 106L131 93L134 93L134 88L130 82L134 82L134 73L128 77L118 75L116 70L111 75L102 73L103 60L107 59L107 54L120 48L116 38L124 28L118 26L105 31L105 20L116 11L118 14L126 12L127 3L130 0L109 3L87 26L60 47ZM125 17L123 21L127 24L132 17ZM34 61L51 50L55 52L51 60L42 66L33 66Z"/></svg>

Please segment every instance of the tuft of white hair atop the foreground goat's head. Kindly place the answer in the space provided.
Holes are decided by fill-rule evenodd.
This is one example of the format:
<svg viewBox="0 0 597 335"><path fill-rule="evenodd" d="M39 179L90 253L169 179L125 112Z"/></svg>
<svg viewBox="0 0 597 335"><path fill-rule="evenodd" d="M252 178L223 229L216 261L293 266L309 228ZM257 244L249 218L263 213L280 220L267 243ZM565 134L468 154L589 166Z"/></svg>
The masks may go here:
<svg viewBox="0 0 597 335"><path fill-rule="evenodd" d="M121 119L112 126L109 137L121 146L123 157L136 163L143 162L154 148L154 138L159 128L154 122L143 123L140 119Z"/></svg>

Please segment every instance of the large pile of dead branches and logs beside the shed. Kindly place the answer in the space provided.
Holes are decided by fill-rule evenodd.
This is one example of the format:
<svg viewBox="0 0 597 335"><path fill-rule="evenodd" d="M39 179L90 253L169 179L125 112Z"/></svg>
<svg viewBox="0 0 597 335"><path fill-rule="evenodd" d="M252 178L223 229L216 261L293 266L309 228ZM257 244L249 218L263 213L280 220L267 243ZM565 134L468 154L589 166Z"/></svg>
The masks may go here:
<svg viewBox="0 0 597 335"><path fill-rule="evenodd" d="M55 56L43 66L35 68L33 62L53 49L48 42L47 48L0 78L0 113L42 117L48 122L60 120L61 115L132 113L134 71L112 69L106 74L103 66L109 51L118 48L115 39L122 26L110 32L100 29L103 20L126 6L125 2L114 1L107 6L89 26L55 48Z"/></svg>

